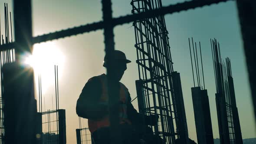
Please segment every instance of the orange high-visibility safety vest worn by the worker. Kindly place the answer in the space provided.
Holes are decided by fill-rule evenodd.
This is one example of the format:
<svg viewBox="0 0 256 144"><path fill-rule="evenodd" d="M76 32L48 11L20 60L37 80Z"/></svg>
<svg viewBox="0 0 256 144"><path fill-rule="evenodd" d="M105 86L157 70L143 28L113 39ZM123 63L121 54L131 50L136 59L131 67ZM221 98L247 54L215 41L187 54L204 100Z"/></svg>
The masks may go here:
<svg viewBox="0 0 256 144"><path fill-rule="evenodd" d="M98 102L108 103L107 76L105 74L102 74L97 77L100 79L102 84L102 94ZM119 96L120 96L120 103L121 103L121 107L119 109L120 124L124 124L124 123L131 124L127 116L128 90L125 87L125 85L123 85L121 82L119 83L120 83ZM110 126L110 121L109 121L108 115L97 120L88 119L88 127L91 133L96 131L98 128L109 127L109 126Z"/></svg>

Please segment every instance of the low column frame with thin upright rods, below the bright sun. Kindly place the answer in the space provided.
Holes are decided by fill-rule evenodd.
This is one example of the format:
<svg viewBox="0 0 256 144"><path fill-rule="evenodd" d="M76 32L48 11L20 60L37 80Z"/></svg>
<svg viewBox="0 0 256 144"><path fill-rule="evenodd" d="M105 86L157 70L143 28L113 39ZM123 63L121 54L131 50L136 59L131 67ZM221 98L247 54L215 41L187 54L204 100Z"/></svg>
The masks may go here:
<svg viewBox="0 0 256 144"><path fill-rule="evenodd" d="M59 109L59 78L58 65L54 65L55 74L55 103L52 110L47 109L44 99L43 111L43 96L42 96L42 76L38 76L38 95L39 95L39 112L38 112L38 127L37 128L37 144L66 144L66 110Z"/></svg>

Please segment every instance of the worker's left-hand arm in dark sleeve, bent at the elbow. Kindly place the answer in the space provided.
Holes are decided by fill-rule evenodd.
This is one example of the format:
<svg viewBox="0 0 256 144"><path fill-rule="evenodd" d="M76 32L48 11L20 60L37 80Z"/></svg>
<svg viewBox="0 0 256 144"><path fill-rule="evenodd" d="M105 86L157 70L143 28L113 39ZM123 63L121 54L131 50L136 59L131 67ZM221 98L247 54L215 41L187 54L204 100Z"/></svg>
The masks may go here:
<svg viewBox="0 0 256 144"><path fill-rule="evenodd" d="M90 79L76 103L76 114L82 118L98 119L108 114L108 104L99 102L102 84L97 77Z"/></svg>

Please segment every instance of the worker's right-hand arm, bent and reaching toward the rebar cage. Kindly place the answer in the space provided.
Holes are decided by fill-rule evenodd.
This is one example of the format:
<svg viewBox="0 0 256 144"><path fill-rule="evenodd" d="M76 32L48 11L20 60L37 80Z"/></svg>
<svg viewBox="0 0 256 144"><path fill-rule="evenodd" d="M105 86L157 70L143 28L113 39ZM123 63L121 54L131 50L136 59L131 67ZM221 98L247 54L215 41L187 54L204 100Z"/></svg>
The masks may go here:
<svg viewBox="0 0 256 144"><path fill-rule="evenodd" d="M156 125L157 115L144 115L137 112L137 110L131 104L130 93L128 92L128 105L127 105L128 119L132 124L145 124L145 125Z"/></svg>

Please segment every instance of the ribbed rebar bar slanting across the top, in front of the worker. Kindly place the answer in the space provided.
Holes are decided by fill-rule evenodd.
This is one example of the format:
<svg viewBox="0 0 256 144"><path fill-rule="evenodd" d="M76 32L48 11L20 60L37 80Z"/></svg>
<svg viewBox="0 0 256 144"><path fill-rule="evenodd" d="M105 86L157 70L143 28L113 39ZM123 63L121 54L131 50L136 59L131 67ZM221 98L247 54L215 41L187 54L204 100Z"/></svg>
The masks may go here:
<svg viewBox="0 0 256 144"><path fill-rule="evenodd" d="M217 4L220 2L227 2L231 0L207 0L207 1L197 1L197 0L192 0L192 1L186 1L184 3L177 3L175 5L171 4L167 7L162 7L160 9L156 10L148 10L146 12L142 13L137 13L137 14L130 14L126 16L120 16L118 18L113 18L112 19L112 25L117 26L125 23L130 23L136 20L141 20L145 18L151 18L155 17L158 15L165 15L165 14L172 14L172 13L177 13L185 10L190 10L190 9L195 9L197 7L203 7L203 6L209 6L212 4ZM234 1L234 0L232 0ZM45 35L41 36L36 36L33 37L32 43L42 43L46 41L51 41L55 39L61 39L69 36L75 36L78 34L82 33L89 33L91 31L95 31L98 29L103 29L104 28L104 21L98 21L95 23L90 23L82 26L77 26L69 29L64 29L61 31L56 31L54 33L48 33ZM12 49L16 45L15 42L13 43L8 43L0 46L0 50L7 50L7 49Z"/></svg>

